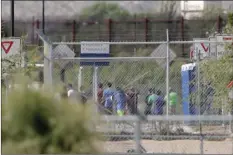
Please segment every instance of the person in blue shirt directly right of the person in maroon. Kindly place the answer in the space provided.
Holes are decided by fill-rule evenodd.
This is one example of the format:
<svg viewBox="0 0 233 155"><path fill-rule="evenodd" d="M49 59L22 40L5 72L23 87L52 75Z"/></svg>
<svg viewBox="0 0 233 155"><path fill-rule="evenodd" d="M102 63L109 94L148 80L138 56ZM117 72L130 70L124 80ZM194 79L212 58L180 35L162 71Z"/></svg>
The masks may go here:
<svg viewBox="0 0 233 155"><path fill-rule="evenodd" d="M104 89L103 97L104 97L104 108L106 111L106 114L111 115L113 112L113 97L115 91L112 89L112 83L107 83L108 88Z"/></svg>

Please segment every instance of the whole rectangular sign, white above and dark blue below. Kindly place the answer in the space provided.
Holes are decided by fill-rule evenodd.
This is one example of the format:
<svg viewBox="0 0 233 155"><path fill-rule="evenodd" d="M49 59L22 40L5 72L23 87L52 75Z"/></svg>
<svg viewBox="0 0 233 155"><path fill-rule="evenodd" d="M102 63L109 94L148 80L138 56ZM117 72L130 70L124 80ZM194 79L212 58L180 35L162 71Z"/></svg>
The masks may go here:
<svg viewBox="0 0 233 155"><path fill-rule="evenodd" d="M95 43L95 42L86 42L83 41L81 42L81 52L80 52L80 57L83 58L98 58L98 57L109 57L109 44L106 43ZM97 61L81 61L80 62L81 66L108 66L109 62L97 62Z"/></svg>

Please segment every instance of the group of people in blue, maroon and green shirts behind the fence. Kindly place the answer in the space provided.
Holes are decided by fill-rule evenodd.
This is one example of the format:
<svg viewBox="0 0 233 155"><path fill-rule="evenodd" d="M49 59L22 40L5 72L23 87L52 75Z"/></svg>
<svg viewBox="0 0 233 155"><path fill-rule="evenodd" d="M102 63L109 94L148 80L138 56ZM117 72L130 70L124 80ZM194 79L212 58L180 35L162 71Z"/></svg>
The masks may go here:
<svg viewBox="0 0 233 155"><path fill-rule="evenodd" d="M107 83L107 88L103 88L103 84L98 85L98 109L100 113L104 114L117 114L135 115L138 113L138 94L136 89L131 88L124 91L122 88L112 88L112 83ZM148 95L145 98L145 115L163 115L163 109L166 105L167 96L162 96L160 90L154 88L149 89ZM177 93L170 90L169 92L169 107L170 113L176 113Z"/></svg>

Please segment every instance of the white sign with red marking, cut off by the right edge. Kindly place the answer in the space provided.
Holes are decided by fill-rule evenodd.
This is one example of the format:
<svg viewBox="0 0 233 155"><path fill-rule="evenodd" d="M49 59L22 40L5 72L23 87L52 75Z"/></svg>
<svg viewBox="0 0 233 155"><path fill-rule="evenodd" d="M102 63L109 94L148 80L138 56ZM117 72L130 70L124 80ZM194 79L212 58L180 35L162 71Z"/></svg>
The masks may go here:
<svg viewBox="0 0 233 155"><path fill-rule="evenodd" d="M233 35L232 36L216 36L217 42L225 42L225 43L217 43L217 58L220 58L227 53L225 50L225 46L228 44L233 45Z"/></svg>

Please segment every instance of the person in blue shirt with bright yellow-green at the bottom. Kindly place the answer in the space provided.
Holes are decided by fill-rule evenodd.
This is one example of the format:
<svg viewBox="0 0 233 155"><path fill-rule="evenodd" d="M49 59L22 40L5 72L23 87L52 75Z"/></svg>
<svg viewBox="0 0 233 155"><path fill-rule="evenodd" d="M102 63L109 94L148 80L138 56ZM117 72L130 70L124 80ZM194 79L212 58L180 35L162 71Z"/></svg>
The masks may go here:
<svg viewBox="0 0 233 155"><path fill-rule="evenodd" d="M116 101L117 115L123 116L125 114L125 106L126 106L125 92L121 88L117 87L114 98Z"/></svg>

